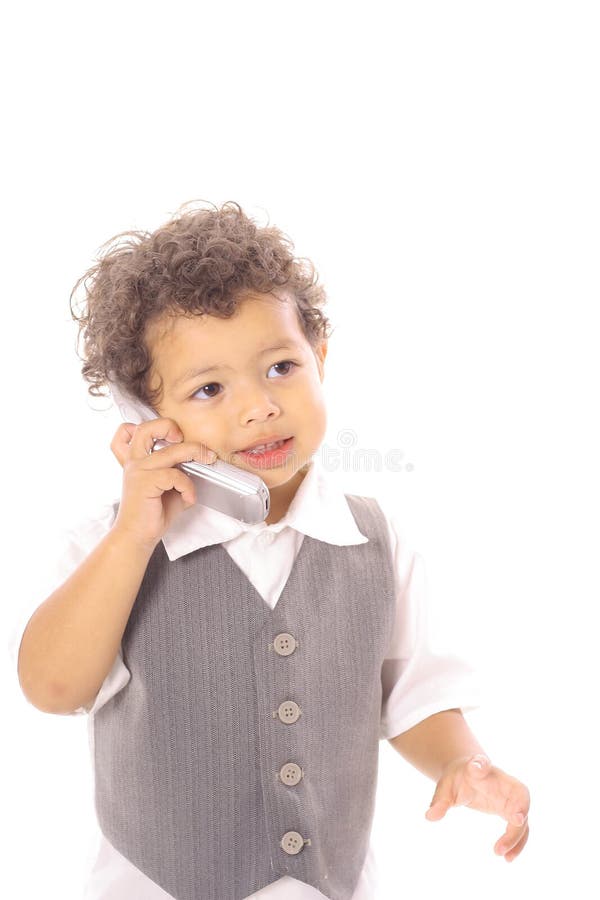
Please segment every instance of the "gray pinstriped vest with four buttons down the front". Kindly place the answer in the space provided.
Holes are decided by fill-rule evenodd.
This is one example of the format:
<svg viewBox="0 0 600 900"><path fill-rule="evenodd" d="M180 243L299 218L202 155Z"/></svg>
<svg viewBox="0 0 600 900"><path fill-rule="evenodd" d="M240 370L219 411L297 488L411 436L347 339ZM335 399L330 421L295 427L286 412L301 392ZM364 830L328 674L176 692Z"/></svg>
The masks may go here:
<svg viewBox="0 0 600 900"><path fill-rule="evenodd" d="M289 875L350 900L368 851L381 667L395 614L374 498L368 543L304 536L271 609L220 544L160 541L122 641L128 684L94 717L108 841L176 900L243 900Z"/></svg>

